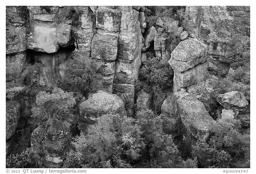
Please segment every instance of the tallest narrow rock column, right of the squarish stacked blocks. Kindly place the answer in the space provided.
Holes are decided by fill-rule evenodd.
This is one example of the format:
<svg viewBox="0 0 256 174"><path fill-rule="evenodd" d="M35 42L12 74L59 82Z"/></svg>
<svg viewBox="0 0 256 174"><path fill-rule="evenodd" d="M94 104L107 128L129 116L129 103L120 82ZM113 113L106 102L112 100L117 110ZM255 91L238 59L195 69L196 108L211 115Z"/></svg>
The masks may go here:
<svg viewBox="0 0 256 174"><path fill-rule="evenodd" d="M141 65L142 35L139 11L132 6L119 8L122 10L122 16L117 44L113 93L116 93L124 101L128 116L132 116L135 103L134 82L138 78Z"/></svg>

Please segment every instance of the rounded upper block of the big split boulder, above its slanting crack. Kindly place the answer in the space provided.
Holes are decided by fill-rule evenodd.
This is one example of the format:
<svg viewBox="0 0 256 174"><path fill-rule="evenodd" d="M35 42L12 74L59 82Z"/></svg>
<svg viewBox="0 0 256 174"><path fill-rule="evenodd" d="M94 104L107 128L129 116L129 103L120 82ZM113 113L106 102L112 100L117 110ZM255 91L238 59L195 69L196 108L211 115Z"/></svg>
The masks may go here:
<svg viewBox="0 0 256 174"><path fill-rule="evenodd" d="M206 62L207 46L196 39L186 39L172 51L168 61L175 72L184 72L198 64Z"/></svg>

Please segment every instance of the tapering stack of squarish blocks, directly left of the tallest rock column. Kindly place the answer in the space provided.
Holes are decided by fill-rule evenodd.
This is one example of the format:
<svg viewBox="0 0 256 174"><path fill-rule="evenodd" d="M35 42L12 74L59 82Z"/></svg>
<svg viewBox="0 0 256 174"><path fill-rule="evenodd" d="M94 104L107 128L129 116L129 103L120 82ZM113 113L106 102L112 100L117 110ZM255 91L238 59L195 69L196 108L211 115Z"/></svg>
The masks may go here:
<svg viewBox="0 0 256 174"><path fill-rule="evenodd" d="M121 10L99 6L96 10L97 32L92 38L92 59L104 79L104 88L112 93L116 69L117 41L121 23Z"/></svg>

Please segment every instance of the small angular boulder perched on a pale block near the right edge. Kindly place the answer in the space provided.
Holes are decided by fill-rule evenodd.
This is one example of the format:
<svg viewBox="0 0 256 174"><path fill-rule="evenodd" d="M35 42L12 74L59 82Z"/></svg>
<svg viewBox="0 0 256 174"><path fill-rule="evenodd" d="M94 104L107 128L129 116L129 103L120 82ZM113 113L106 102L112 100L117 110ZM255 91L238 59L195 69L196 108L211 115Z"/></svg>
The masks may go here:
<svg viewBox="0 0 256 174"><path fill-rule="evenodd" d="M244 108L248 105L244 94L238 91L221 94L217 97L217 101L225 109Z"/></svg>

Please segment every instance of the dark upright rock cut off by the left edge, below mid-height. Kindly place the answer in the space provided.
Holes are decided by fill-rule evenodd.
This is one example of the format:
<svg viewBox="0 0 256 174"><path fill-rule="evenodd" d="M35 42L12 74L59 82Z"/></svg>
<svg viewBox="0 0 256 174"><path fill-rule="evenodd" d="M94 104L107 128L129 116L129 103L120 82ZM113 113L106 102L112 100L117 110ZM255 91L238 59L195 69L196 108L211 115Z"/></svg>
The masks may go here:
<svg viewBox="0 0 256 174"><path fill-rule="evenodd" d="M18 101L6 102L5 137L9 139L15 134L20 119L20 103Z"/></svg>

